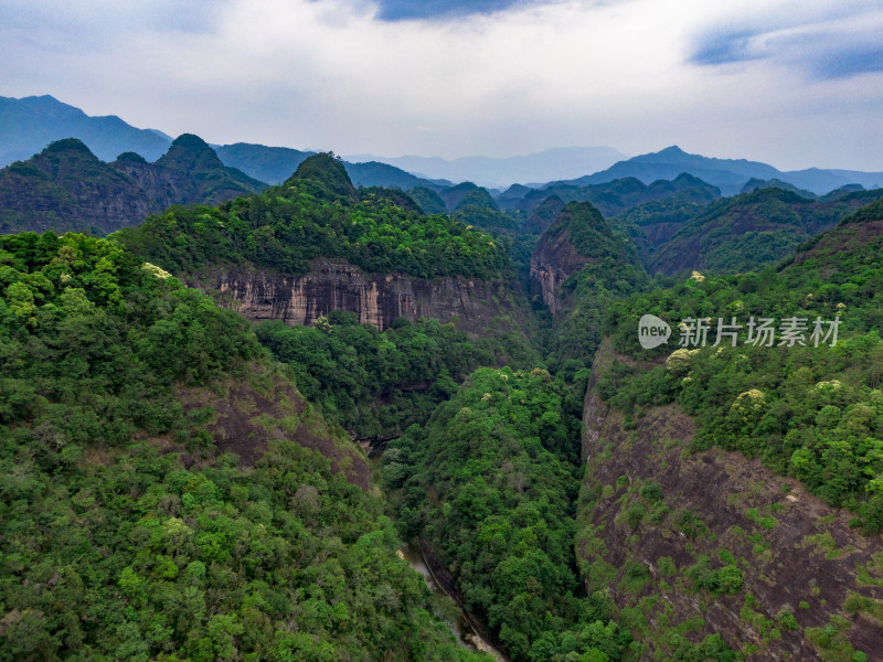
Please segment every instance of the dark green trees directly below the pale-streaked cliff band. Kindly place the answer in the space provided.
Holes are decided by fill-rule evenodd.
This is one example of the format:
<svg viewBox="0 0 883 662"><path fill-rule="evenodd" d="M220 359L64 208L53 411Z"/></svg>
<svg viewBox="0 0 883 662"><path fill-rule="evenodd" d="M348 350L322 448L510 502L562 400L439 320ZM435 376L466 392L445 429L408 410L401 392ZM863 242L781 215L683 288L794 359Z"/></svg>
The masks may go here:
<svg viewBox="0 0 883 662"><path fill-rule="evenodd" d="M422 423L494 354L454 324L401 318L383 333L333 311L315 327L267 322L258 340L295 371L304 396L359 437L394 437Z"/></svg>

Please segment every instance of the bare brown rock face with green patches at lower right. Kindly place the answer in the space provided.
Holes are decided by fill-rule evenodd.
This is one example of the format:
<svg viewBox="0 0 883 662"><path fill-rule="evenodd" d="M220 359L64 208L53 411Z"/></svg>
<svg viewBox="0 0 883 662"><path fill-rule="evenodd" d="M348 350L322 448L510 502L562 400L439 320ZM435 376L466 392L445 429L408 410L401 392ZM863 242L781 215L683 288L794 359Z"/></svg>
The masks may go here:
<svg viewBox="0 0 883 662"><path fill-rule="evenodd" d="M625 429L597 394L614 359L631 363L605 340L584 409L576 552L588 589L631 610L643 659L670 654L681 624L746 660L852 660L849 647L883 660L881 537L759 460L691 453L694 424L677 405Z"/></svg>

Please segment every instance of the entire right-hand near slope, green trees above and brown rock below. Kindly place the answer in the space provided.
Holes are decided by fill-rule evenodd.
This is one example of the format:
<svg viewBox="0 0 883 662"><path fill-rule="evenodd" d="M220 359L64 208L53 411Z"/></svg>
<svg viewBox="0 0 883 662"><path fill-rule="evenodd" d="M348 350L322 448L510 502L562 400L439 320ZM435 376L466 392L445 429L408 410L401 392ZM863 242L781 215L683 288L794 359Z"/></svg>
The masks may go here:
<svg viewBox="0 0 883 662"><path fill-rule="evenodd" d="M694 276L609 310L577 549L648 658L691 632L748 660L883 659L882 243L876 202L778 273ZM639 346L647 313L674 329L668 344ZM714 343L712 323L706 343L672 352L696 317L738 335ZM777 324L770 346L747 342L760 317ZM790 342L792 317L808 328ZM816 318L839 334L815 342Z"/></svg>

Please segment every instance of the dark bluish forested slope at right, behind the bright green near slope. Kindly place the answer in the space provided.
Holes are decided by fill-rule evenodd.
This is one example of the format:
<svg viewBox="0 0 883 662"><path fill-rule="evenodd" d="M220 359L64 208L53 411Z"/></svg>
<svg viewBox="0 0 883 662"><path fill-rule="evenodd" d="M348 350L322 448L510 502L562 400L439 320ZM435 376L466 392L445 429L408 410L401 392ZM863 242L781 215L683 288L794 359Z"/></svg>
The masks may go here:
<svg viewBox="0 0 883 662"><path fill-rule="evenodd" d="M734 273L777 263L883 191L817 202L781 189L758 189L716 202L685 222L649 256L651 274L687 269Z"/></svg>

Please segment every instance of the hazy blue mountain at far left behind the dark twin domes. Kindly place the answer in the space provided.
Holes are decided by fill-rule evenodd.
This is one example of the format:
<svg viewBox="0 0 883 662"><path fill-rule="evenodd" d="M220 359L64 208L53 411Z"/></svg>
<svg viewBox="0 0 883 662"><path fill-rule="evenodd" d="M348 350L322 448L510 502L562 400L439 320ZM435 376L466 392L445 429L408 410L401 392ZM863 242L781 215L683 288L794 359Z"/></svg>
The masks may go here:
<svg viewBox="0 0 883 662"><path fill-rule="evenodd" d="M89 117L49 95L0 97L0 167L28 159L62 138L78 138L108 162L126 151L155 161L171 143L161 131L137 129L115 115Z"/></svg>

